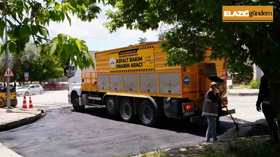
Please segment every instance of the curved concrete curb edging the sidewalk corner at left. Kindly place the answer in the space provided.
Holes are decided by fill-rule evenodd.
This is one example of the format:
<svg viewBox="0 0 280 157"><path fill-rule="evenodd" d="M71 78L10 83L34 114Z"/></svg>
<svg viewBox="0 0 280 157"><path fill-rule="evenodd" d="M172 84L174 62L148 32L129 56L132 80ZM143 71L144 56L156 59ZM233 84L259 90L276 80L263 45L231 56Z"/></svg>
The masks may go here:
<svg viewBox="0 0 280 157"><path fill-rule="evenodd" d="M8 122L8 123L1 123L0 124L0 131L7 131L7 130L10 130L10 129L15 129L15 128L20 127L22 125L26 125L28 123L35 122L36 120L38 120L43 115L43 113L44 113L44 111L41 110L41 113L39 113L37 115L34 115L32 117L17 119L16 121Z"/></svg>

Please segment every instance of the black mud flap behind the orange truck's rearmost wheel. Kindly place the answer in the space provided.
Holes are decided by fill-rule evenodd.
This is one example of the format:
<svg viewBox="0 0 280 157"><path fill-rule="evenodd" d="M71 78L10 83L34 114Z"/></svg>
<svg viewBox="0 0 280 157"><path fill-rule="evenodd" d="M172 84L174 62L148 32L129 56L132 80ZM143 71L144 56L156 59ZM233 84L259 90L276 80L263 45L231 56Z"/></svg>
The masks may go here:
<svg viewBox="0 0 280 157"><path fill-rule="evenodd" d="M167 100L167 98L164 98L163 104L164 113L168 118L180 118L177 107L177 99Z"/></svg>

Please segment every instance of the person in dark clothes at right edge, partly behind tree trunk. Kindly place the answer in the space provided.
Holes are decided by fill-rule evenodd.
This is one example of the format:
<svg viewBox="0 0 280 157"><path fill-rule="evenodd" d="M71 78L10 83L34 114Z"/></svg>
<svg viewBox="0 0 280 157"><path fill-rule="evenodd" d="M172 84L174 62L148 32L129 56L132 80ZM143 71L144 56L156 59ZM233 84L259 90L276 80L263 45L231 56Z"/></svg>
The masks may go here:
<svg viewBox="0 0 280 157"><path fill-rule="evenodd" d="M261 77L261 83L260 83L260 90L258 93L258 100L256 102L256 109L258 112L263 112L265 119L267 123L269 124L269 135L272 139L274 137L276 138L275 141L279 141L278 138L278 131L280 132L280 121L277 121L277 123L274 121L274 118L276 118L276 113L274 112L274 109L272 107L272 92L270 90L269 84L265 78L265 75ZM262 104L262 108L261 108ZM278 131L277 131L277 124L278 124Z"/></svg>

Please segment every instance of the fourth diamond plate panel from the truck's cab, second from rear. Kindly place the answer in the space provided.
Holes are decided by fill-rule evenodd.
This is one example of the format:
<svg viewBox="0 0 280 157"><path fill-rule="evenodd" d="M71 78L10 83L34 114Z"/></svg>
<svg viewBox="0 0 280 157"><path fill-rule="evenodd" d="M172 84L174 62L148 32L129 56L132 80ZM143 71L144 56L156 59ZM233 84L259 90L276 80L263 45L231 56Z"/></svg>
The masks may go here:
<svg viewBox="0 0 280 157"><path fill-rule="evenodd" d="M141 93L158 93L157 73L139 74Z"/></svg>

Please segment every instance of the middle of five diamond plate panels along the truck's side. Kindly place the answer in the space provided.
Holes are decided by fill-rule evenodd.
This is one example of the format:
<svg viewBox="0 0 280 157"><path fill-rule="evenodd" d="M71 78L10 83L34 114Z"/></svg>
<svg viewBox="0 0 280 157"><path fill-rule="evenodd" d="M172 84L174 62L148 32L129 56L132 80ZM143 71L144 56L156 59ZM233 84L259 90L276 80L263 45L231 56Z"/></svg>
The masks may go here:
<svg viewBox="0 0 280 157"><path fill-rule="evenodd" d="M123 90L138 92L138 74L123 74Z"/></svg>

